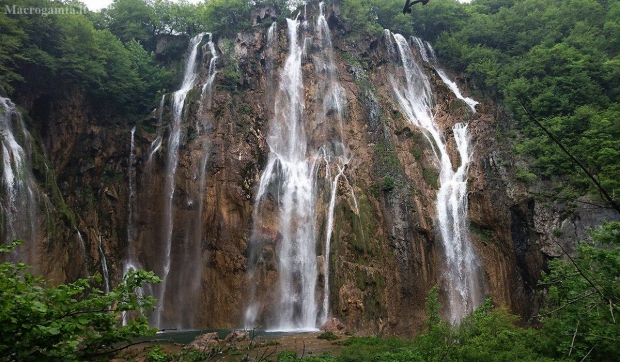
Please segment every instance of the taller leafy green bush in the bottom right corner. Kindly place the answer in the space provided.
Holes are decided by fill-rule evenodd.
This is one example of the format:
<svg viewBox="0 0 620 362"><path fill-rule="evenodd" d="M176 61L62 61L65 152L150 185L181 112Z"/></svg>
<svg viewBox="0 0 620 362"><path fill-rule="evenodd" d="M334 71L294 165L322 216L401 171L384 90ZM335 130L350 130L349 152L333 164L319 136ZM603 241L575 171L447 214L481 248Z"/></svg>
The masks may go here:
<svg viewBox="0 0 620 362"><path fill-rule="evenodd" d="M555 259L541 284L547 288L540 321L542 348L554 358L615 361L620 355L620 223L593 230L570 261Z"/></svg>

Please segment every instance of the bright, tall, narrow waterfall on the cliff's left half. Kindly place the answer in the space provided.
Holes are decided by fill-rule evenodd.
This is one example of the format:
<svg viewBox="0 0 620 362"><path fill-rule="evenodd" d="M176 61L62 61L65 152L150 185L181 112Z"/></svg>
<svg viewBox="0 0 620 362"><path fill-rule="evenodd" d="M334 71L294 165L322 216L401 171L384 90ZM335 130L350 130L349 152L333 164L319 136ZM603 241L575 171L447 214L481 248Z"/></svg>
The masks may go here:
<svg viewBox="0 0 620 362"><path fill-rule="evenodd" d="M172 120L170 124L170 134L167 144L166 170L164 179L164 219L163 219L163 237L164 237L164 255L163 255L163 272L161 275L162 283L159 286L158 301L159 305L155 310L154 322L157 327L161 327L161 314L164 309L166 287L168 282L168 274L170 273L172 250L172 233L174 223L174 191L176 188L175 175L179 163L179 146L181 143L181 123L183 118L183 108L187 93L194 87L196 83L198 47L204 33L198 34L190 40L189 54L185 63L185 72L183 74L183 83L181 88L173 95L172 103Z"/></svg>

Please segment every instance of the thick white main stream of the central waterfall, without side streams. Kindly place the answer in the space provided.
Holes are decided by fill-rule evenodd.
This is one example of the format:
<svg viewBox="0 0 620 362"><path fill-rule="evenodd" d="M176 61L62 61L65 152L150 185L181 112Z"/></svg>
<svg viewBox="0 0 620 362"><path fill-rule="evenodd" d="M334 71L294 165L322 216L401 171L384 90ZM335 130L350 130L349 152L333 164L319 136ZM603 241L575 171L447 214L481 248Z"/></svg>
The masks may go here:
<svg viewBox="0 0 620 362"><path fill-rule="evenodd" d="M280 72L274 122L267 137L269 159L260 178L255 210L259 209L267 186L276 183L277 220L282 240L277 250L279 313L272 327L278 330L314 329L317 323L315 162L306 155L302 49L298 40L300 23L287 19L287 25L289 55Z"/></svg>

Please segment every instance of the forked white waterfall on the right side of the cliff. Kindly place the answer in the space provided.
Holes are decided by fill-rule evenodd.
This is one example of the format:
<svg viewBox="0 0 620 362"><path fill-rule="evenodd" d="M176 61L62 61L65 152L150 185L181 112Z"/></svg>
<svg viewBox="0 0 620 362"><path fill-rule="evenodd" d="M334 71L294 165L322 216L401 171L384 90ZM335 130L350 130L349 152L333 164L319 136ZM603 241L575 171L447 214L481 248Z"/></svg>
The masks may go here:
<svg viewBox="0 0 620 362"><path fill-rule="evenodd" d="M456 124L452 131L460 156L454 171L446 141L432 113L430 84L415 62L407 40L395 34L404 76L391 76L398 103L407 119L425 132L441 166L440 189L437 193L437 221L445 257L444 287L448 296L451 322L458 323L480 304L480 265L473 250L467 228L467 171L471 158L467 125ZM431 142L432 140L432 142Z"/></svg>

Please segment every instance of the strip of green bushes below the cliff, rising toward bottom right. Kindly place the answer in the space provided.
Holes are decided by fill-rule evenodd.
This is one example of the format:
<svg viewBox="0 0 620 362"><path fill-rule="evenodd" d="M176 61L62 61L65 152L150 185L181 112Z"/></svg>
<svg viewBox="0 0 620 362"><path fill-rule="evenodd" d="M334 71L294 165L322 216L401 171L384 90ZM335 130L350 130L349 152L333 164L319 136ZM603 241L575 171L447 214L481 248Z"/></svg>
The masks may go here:
<svg viewBox="0 0 620 362"><path fill-rule="evenodd" d="M435 287L426 299L425 330L414 339L352 337L334 342L340 345L337 356L329 352L308 356L300 347L296 353L278 352L277 361L616 361L620 356L620 223L605 224L593 230L592 237L593 243L580 243L569 261L557 259L550 264L542 280L547 287L540 295L543 308L533 323L524 326L519 317L487 300L459 325L451 325L441 319ZM271 357L276 351L262 356ZM183 353L167 355L159 349L149 356L152 361L181 357Z"/></svg>

